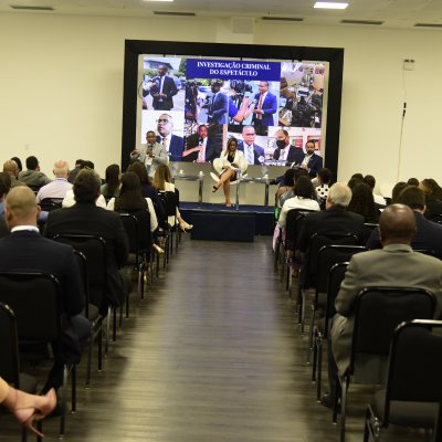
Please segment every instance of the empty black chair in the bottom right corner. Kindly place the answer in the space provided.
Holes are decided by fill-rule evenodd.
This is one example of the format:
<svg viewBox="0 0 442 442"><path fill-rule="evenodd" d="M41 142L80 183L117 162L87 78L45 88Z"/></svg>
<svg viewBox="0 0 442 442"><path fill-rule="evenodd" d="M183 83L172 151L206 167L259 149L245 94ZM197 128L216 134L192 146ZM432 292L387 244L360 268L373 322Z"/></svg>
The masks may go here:
<svg viewBox="0 0 442 442"><path fill-rule="evenodd" d="M434 429L441 440L442 322L411 320L392 336L386 387L375 393L365 419L364 441L380 439L389 424ZM439 332L434 333L434 332ZM440 425L440 423L439 423Z"/></svg>

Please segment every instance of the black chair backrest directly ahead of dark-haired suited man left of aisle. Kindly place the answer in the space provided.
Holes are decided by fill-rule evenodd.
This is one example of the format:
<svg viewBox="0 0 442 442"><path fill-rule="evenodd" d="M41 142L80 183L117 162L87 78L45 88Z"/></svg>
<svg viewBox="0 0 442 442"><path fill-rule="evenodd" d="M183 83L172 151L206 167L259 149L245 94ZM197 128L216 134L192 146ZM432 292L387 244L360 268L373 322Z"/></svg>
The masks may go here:
<svg viewBox="0 0 442 442"><path fill-rule="evenodd" d="M138 256L151 245L150 213L148 210L119 213L127 238L129 252Z"/></svg>

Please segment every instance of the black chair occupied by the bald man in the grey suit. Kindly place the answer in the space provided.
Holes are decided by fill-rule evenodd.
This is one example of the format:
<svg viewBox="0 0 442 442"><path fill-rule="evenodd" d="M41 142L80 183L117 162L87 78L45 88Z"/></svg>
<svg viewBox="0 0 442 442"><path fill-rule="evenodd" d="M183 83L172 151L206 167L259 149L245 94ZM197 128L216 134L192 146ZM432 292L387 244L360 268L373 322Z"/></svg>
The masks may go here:
<svg viewBox="0 0 442 442"><path fill-rule="evenodd" d="M385 383L390 341L396 327L414 318L432 319L435 298L423 288L367 287L356 298L350 365L337 373L333 420L336 422L340 390L340 442L345 441L347 390L358 383ZM376 326L375 326L376 325Z"/></svg>

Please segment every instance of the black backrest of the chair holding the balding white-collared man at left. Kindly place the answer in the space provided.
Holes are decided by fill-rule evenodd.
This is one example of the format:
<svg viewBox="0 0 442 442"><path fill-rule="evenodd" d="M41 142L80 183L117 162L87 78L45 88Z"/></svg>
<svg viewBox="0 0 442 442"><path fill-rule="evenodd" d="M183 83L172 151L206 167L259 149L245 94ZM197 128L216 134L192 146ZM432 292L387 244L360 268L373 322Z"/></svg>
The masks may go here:
<svg viewBox="0 0 442 442"><path fill-rule="evenodd" d="M36 272L1 272L0 302L17 317L20 341L53 341L61 330L62 293L59 280Z"/></svg>

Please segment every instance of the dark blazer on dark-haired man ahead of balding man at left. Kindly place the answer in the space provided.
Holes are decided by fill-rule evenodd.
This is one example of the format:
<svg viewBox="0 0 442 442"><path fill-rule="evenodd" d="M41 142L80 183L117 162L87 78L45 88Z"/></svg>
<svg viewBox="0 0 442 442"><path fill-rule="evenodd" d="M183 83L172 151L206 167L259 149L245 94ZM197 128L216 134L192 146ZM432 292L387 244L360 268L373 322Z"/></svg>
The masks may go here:
<svg viewBox="0 0 442 442"><path fill-rule="evenodd" d="M53 238L57 233L95 234L106 241L107 301L112 305L116 304L115 299L123 302L126 293L118 270L127 260L129 246L119 214L95 203L76 203L53 210L48 215L44 234Z"/></svg>

